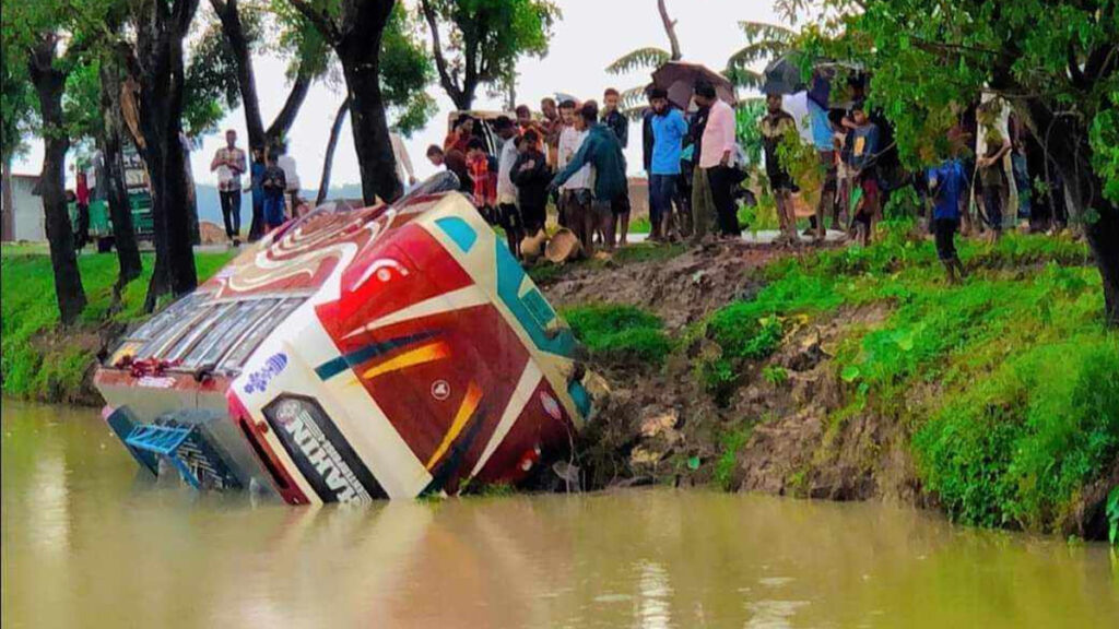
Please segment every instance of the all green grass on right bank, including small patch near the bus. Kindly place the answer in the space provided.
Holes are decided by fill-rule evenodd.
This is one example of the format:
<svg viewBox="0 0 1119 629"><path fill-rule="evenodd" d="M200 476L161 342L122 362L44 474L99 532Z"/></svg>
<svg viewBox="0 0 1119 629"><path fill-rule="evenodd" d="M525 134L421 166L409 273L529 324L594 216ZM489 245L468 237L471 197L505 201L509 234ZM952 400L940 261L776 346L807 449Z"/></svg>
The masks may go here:
<svg viewBox="0 0 1119 629"><path fill-rule="evenodd" d="M789 372L769 359L798 331L827 322L841 329L824 349L840 402L828 409L809 461L790 475L793 492L797 477L833 459L829 449L849 449L847 433L869 421L902 435L922 501L956 520L1070 531L1089 517L1085 504L1099 505L1110 491L1113 525L1119 335L1103 326L1100 278L1085 247L1046 236L1009 235L994 246L961 242L970 275L951 285L932 243L914 238L911 224L886 231L869 248L771 264L760 291L679 338L664 339L655 318L624 307L570 317L592 358L647 356L659 369L673 351L688 364L695 391L724 409L714 431L721 436L711 444L718 456L704 458L695 472L708 481L733 487L750 434L779 420L751 416L739 392L761 386L765 395L793 395L784 386ZM868 323L844 320L866 310L884 314ZM704 416L693 413L684 423L711 421ZM695 468L705 445L677 447L676 469ZM881 454L872 448L858 456Z"/></svg>

